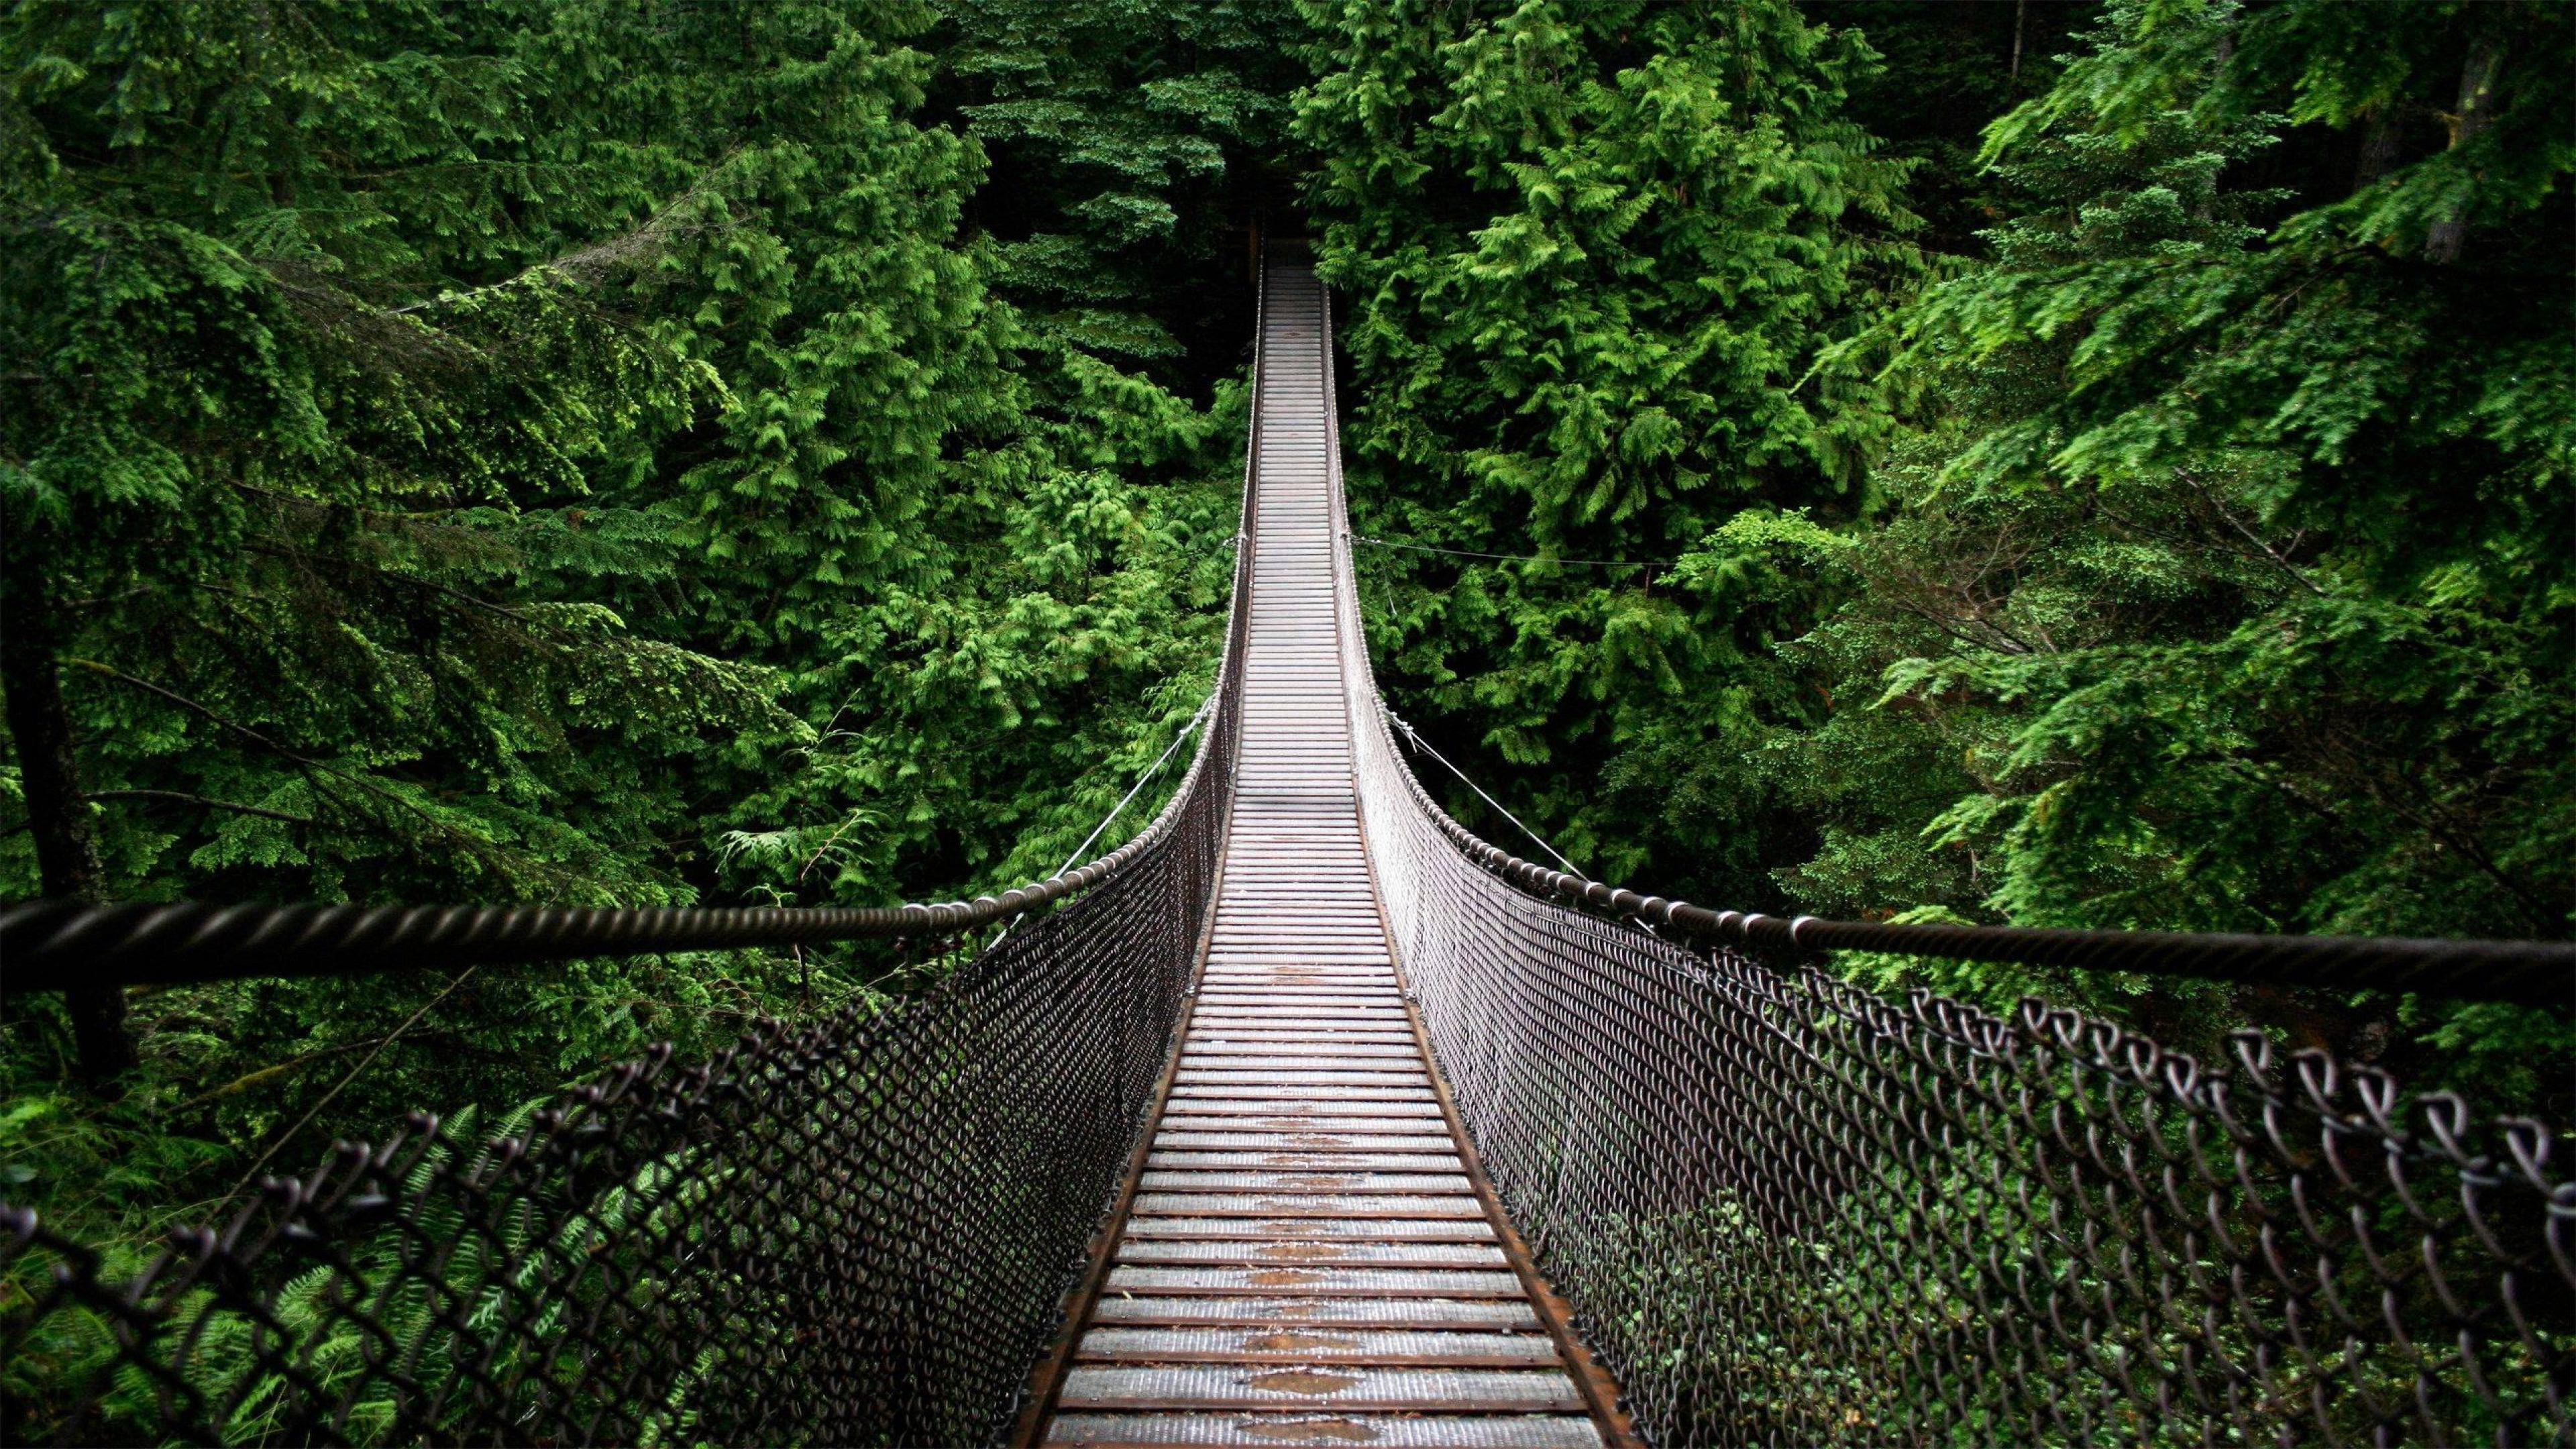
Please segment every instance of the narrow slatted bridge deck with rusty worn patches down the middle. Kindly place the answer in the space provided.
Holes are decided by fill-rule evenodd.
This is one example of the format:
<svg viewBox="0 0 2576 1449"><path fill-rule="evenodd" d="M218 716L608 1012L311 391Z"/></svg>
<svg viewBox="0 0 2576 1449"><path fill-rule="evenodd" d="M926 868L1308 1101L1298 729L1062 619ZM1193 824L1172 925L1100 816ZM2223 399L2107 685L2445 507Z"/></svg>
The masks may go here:
<svg viewBox="0 0 2576 1449"><path fill-rule="evenodd" d="M1046 1441L1587 1449L1602 1439L1461 1158L1360 841L1321 307L1309 268L1273 263L1216 928Z"/></svg>

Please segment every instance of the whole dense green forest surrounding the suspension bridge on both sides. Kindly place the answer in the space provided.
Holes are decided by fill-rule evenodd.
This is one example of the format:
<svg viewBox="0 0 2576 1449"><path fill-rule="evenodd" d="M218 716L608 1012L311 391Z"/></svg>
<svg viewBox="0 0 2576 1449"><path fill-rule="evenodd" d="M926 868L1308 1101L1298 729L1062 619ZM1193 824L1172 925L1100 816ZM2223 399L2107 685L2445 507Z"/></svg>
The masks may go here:
<svg viewBox="0 0 2576 1449"><path fill-rule="evenodd" d="M1388 704L1584 871L2576 926L2571 5L18 0L0 64L0 900L1048 874L1211 688L1311 237ZM1839 967L2576 1106L2563 1013ZM0 1196L144 1240L917 980L10 998Z"/></svg>

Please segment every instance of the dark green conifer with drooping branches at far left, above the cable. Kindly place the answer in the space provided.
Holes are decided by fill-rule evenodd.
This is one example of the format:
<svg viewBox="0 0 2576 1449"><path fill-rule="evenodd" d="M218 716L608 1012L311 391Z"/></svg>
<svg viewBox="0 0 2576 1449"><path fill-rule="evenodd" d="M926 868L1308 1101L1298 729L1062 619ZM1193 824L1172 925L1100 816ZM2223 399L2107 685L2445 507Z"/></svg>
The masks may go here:
<svg viewBox="0 0 2576 1449"><path fill-rule="evenodd" d="M562 583L667 567L595 477L719 384L603 297L703 214L526 18L13 15L0 683L100 895L667 900L639 768L770 714Z"/></svg>

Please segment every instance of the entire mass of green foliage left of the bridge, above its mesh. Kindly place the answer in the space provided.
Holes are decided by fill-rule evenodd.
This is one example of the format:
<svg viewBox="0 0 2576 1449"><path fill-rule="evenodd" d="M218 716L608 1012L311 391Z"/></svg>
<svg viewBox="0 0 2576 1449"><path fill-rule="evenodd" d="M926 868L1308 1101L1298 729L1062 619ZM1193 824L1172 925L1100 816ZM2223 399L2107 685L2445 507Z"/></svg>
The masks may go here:
<svg viewBox="0 0 2576 1449"><path fill-rule="evenodd" d="M1242 400L992 291L981 144L922 116L935 21L0 21L8 578L59 624L108 895L876 905L1061 861L1206 691ZM116 1104L13 1000L10 1196L149 1230L260 1150L301 1171L891 964L139 993Z"/></svg>

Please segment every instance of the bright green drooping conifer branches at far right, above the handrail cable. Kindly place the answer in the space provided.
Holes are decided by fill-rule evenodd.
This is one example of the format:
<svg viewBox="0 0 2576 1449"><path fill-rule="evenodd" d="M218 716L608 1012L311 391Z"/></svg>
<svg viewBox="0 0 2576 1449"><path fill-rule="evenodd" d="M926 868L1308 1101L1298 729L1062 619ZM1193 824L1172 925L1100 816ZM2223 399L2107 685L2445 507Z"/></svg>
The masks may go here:
<svg viewBox="0 0 2576 1449"><path fill-rule="evenodd" d="M2568 933L2568 46L2558 10L2112 5L1994 126L1991 260L1873 338L1893 511L1695 559L1844 590L1793 645L1834 712L1765 750L1824 828L1801 908ZM2488 64L2483 124L2445 119ZM2499 1098L2571 1049L2501 1008L1904 980L2184 1039L2254 1011Z"/></svg>

